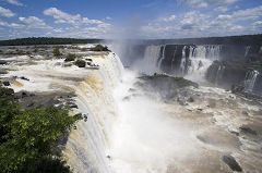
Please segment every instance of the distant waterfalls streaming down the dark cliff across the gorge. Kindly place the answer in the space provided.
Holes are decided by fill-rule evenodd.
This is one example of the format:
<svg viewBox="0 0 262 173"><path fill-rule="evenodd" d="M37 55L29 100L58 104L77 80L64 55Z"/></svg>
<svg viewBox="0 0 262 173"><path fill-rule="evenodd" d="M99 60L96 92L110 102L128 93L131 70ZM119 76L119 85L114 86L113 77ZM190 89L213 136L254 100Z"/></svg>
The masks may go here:
<svg viewBox="0 0 262 173"><path fill-rule="evenodd" d="M166 55L167 51L171 51L168 53L170 57ZM181 53L178 51L181 51ZM143 59L138 61L134 66L139 66L141 72L147 74L165 73L163 62L169 61L170 72L168 73L182 76L188 75L189 77L192 77L192 75L194 77L201 76L203 78L211 63L219 59L219 53L221 46L183 46L181 50L178 46L175 46L172 50L167 50L166 46L147 46ZM179 54L181 57L178 57ZM180 64L177 64L178 62ZM177 66L179 69L176 69Z"/></svg>

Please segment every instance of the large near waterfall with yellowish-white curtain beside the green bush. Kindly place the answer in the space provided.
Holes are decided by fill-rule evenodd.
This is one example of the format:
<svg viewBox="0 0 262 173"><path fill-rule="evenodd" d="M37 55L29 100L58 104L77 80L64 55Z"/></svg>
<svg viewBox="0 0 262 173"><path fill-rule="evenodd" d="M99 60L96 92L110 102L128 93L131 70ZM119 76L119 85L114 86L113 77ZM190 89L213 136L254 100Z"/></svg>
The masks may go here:
<svg viewBox="0 0 262 173"><path fill-rule="evenodd" d="M87 114L88 120L79 122L78 131L70 133L63 155L76 173L110 173L107 149L117 116L112 91L121 78L123 67L114 53L93 61L100 69L91 71L85 81L73 87L80 112Z"/></svg>

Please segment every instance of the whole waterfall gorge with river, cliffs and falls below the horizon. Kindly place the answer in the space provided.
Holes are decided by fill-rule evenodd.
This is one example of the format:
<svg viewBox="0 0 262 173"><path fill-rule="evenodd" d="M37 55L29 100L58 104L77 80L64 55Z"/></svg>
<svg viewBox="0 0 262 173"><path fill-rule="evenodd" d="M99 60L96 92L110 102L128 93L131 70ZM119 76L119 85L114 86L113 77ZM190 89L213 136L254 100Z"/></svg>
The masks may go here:
<svg viewBox="0 0 262 173"><path fill-rule="evenodd" d="M8 87L86 115L62 150L73 172L262 172L261 45L105 44L0 47Z"/></svg>

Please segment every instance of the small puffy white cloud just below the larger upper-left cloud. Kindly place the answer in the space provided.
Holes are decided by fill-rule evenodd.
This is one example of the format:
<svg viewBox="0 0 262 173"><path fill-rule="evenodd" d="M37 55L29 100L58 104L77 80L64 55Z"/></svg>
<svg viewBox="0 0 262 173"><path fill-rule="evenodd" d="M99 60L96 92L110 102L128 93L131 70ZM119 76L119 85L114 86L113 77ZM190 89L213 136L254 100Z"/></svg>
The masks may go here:
<svg viewBox="0 0 262 173"><path fill-rule="evenodd" d="M50 28L43 20L36 16L19 17L19 21L29 28Z"/></svg>

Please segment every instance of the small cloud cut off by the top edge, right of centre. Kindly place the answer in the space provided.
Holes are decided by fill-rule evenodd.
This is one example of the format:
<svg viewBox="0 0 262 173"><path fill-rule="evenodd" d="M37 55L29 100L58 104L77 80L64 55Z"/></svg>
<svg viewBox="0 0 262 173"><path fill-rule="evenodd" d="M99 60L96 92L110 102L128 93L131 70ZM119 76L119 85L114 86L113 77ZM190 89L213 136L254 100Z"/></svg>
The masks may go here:
<svg viewBox="0 0 262 173"><path fill-rule="evenodd" d="M193 8L207 8L210 5L225 7L237 2L238 0L178 0Z"/></svg>

